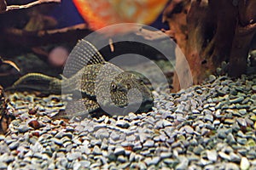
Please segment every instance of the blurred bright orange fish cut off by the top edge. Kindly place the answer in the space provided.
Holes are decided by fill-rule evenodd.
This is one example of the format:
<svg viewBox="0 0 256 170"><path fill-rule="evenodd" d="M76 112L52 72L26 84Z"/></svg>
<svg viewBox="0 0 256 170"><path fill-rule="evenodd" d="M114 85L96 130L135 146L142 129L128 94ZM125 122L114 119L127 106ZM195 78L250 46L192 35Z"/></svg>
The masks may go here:
<svg viewBox="0 0 256 170"><path fill-rule="evenodd" d="M151 24L167 0L73 0L93 30L119 23Z"/></svg>

